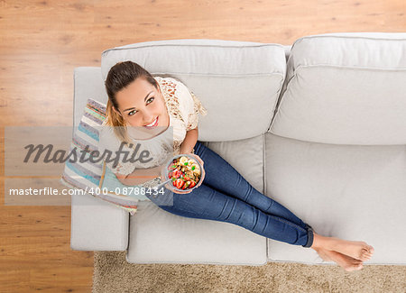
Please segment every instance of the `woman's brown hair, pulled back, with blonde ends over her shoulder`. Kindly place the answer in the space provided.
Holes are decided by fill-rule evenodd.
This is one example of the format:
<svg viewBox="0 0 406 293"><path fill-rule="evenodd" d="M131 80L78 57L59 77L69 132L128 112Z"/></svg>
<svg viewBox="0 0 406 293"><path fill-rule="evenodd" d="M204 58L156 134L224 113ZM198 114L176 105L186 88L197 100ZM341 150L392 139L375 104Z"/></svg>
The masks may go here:
<svg viewBox="0 0 406 293"><path fill-rule="evenodd" d="M124 117L118 113L116 93L134 82L136 78L144 78L153 87L159 87L158 82L151 73L133 61L118 62L107 74L105 81L108 101L106 105L106 125L113 126L115 136L122 141L131 143L128 136Z"/></svg>

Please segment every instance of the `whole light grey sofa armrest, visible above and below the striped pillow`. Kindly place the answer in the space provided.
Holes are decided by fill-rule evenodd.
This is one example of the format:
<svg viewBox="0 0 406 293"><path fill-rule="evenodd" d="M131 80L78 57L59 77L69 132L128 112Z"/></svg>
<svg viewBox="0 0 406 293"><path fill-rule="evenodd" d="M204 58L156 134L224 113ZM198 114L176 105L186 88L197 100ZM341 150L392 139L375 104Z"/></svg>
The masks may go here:
<svg viewBox="0 0 406 293"><path fill-rule="evenodd" d="M106 103L99 67L74 70L73 131L83 115L88 97ZM71 197L70 247L77 251L125 251L128 246L129 213L92 195Z"/></svg>

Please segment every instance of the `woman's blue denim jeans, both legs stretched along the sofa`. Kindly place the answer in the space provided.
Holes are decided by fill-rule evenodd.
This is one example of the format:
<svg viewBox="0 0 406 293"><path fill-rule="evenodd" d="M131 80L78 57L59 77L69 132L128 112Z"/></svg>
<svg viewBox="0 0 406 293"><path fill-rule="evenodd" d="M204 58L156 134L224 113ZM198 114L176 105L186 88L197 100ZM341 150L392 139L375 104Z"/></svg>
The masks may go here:
<svg viewBox="0 0 406 293"><path fill-rule="evenodd" d="M164 188L163 195L146 195L154 204L171 214L237 224L283 243L312 245L313 229L309 224L253 188L226 160L203 143L196 143L195 154L205 163L206 175L201 186L188 194ZM171 204L165 204L168 202Z"/></svg>

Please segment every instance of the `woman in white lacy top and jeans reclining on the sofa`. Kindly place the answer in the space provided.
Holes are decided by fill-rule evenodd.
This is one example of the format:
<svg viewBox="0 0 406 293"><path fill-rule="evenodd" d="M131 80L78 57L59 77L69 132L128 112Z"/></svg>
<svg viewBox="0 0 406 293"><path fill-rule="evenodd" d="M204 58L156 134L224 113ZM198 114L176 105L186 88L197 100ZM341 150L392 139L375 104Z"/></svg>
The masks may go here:
<svg viewBox="0 0 406 293"><path fill-rule="evenodd" d="M318 235L286 207L253 188L215 151L198 142L198 113L206 114L206 109L179 80L153 78L138 64L125 61L110 69L105 85L106 125L115 127L114 138L101 137L100 143L151 141L158 148L165 140L156 138L163 137L172 126L174 153L189 153L204 164L200 186L191 192L173 193L167 184L162 194L146 195L163 210L237 224L273 240L312 248L322 259L335 261L347 271L361 270L363 261L371 259L372 246ZM123 184L139 185L146 181L145 177L158 178L159 182L165 161L167 157L154 160L154 167L148 169L122 162L107 166ZM171 204L167 205L170 195Z"/></svg>

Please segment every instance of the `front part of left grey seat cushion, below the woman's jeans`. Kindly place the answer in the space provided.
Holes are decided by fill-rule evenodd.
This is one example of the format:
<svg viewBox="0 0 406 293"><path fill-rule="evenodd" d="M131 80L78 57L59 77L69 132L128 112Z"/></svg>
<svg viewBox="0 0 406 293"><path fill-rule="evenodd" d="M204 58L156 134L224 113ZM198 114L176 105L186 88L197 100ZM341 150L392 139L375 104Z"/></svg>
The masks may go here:
<svg viewBox="0 0 406 293"><path fill-rule="evenodd" d="M173 215L140 201L130 217L131 263L262 265L266 239L235 224Z"/></svg>

